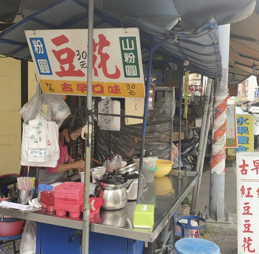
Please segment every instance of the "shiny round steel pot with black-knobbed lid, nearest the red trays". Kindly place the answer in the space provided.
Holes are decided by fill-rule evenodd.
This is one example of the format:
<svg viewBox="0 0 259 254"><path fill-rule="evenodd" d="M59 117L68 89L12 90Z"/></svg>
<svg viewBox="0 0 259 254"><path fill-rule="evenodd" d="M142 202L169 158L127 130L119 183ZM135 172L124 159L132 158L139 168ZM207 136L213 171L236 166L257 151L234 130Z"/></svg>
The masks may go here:
<svg viewBox="0 0 259 254"><path fill-rule="evenodd" d="M128 179L116 178L113 174L108 174L104 179L95 178L95 181L97 186L94 189L94 196L103 199L102 209L119 210L126 206L133 182L126 187Z"/></svg>

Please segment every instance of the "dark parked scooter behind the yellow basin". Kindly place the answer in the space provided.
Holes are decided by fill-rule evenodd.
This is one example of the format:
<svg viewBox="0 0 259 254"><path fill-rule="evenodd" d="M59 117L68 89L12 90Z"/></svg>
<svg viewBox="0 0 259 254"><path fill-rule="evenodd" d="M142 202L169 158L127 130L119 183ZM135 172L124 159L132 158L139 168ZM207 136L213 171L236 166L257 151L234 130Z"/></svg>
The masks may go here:
<svg viewBox="0 0 259 254"><path fill-rule="evenodd" d="M173 141L178 147L179 141ZM181 160L184 170L195 170L194 165L197 163L199 139L183 139L181 140Z"/></svg>

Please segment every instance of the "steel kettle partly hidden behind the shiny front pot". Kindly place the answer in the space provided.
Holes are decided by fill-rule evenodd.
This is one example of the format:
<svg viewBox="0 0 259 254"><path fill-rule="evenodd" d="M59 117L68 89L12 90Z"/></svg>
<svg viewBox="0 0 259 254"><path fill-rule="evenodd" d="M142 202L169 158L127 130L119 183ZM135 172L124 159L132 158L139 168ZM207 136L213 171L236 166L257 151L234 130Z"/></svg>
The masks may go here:
<svg viewBox="0 0 259 254"><path fill-rule="evenodd" d="M127 181L126 187L133 183L132 191L130 193L128 193L128 200L136 200L137 199L137 194L138 194L138 178L139 178L139 174L126 172L125 174L116 174L115 177L127 178L128 181ZM146 179L142 176L141 182L140 182L140 185L141 185L140 186L140 198L143 195L144 182L145 181L146 181Z"/></svg>

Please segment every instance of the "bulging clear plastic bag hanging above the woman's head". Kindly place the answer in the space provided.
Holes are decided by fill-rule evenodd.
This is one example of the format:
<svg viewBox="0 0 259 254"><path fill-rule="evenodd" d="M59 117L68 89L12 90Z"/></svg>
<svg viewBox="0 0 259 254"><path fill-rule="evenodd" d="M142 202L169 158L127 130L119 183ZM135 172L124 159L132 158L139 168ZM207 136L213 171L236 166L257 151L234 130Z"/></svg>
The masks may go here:
<svg viewBox="0 0 259 254"><path fill-rule="evenodd" d="M69 106L61 95L42 93L37 103L37 110L48 121L55 121L59 127L71 114Z"/></svg>

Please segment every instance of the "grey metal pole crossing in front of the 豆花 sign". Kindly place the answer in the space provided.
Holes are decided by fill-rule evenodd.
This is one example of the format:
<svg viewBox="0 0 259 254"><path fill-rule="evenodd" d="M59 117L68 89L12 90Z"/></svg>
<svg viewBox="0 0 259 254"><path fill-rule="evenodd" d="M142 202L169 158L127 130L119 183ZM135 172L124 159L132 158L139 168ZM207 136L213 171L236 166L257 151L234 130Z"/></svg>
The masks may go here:
<svg viewBox="0 0 259 254"><path fill-rule="evenodd" d="M94 31L94 0L88 1L88 48L87 48L87 110L92 111L92 80L93 80L93 31ZM91 117L89 115L89 122ZM84 203L83 203L83 236L82 254L88 254L89 249L89 194L90 194L90 159L92 126L88 124L87 140L85 142L85 174L84 174Z"/></svg>

